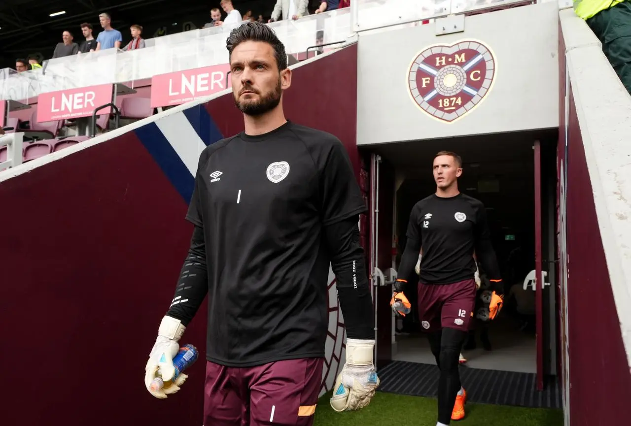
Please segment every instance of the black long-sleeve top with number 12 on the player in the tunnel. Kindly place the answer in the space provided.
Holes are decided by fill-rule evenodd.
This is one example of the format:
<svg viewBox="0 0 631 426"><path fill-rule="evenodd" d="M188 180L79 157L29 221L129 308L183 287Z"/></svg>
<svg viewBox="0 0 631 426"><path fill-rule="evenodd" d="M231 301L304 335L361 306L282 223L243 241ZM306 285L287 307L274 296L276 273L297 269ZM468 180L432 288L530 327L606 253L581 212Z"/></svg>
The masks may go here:
<svg viewBox="0 0 631 426"><path fill-rule="evenodd" d="M501 280L484 205L468 195L445 198L433 194L420 200L410 214L406 237L399 279L414 279L414 267L423 247L419 280L424 284L473 279L474 251L488 279Z"/></svg>

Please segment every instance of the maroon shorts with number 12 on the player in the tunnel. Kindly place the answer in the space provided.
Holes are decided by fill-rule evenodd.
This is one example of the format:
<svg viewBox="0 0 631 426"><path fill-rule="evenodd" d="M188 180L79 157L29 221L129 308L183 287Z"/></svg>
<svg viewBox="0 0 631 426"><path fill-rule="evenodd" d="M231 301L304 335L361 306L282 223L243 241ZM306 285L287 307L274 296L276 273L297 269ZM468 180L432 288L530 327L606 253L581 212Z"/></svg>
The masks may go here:
<svg viewBox="0 0 631 426"><path fill-rule="evenodd" d="M422 331L456 328L469 331L475 308L475 280L453 284L418 284L418 319Z"/></svg>

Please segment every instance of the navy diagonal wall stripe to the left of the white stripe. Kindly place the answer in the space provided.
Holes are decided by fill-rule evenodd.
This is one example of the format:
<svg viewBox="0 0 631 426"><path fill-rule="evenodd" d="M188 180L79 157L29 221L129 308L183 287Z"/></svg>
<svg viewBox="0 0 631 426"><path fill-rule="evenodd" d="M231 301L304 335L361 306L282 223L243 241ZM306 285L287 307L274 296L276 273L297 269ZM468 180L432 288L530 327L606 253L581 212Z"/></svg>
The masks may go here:
<svg viewBox="0 0 631 426"><path fill-rule="evenodd" d="M195 185L195 178L186 168L167 138L160 132L155 123L148 123L134 130L138 139L151 154L168 180L180 193L182 199L189 204Z"/></svg>

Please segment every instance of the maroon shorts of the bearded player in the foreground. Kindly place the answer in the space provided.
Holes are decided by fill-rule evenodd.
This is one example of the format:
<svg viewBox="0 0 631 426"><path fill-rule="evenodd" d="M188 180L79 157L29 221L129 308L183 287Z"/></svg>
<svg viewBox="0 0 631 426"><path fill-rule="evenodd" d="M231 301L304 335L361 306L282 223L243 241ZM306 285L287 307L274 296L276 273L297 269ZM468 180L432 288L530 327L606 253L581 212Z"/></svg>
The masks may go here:
<svg viewBox="0 0 631 426"><path fill-rule="evenodd" d="M204 426L310 426L322 384L322 358L257 367L206 362Z"/></svg>

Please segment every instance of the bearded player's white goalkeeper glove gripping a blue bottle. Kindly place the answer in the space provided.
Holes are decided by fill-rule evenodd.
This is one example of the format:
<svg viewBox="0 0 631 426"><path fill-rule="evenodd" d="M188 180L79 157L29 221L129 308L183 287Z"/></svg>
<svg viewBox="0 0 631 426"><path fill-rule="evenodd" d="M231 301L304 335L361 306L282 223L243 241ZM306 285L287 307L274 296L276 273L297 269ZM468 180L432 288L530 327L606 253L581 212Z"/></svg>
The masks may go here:
<svg viewBox="0 0 631 426"><path fill-rule="evenodd" d="M168 386L165 384L162 389L151 389L151 382L158 377L158 372L165 383L173 378L175 374L173 359L180 349L180 345L177 342L184 334L184 330L186 330L186 327L182 325L182 321L176 320L171 316L162 318L160 328L158 328L158 338L144 367L144 386L156 398L167 398L168 394L179 391L180 386L188 377L186 374L180 374Z"/></svg>

